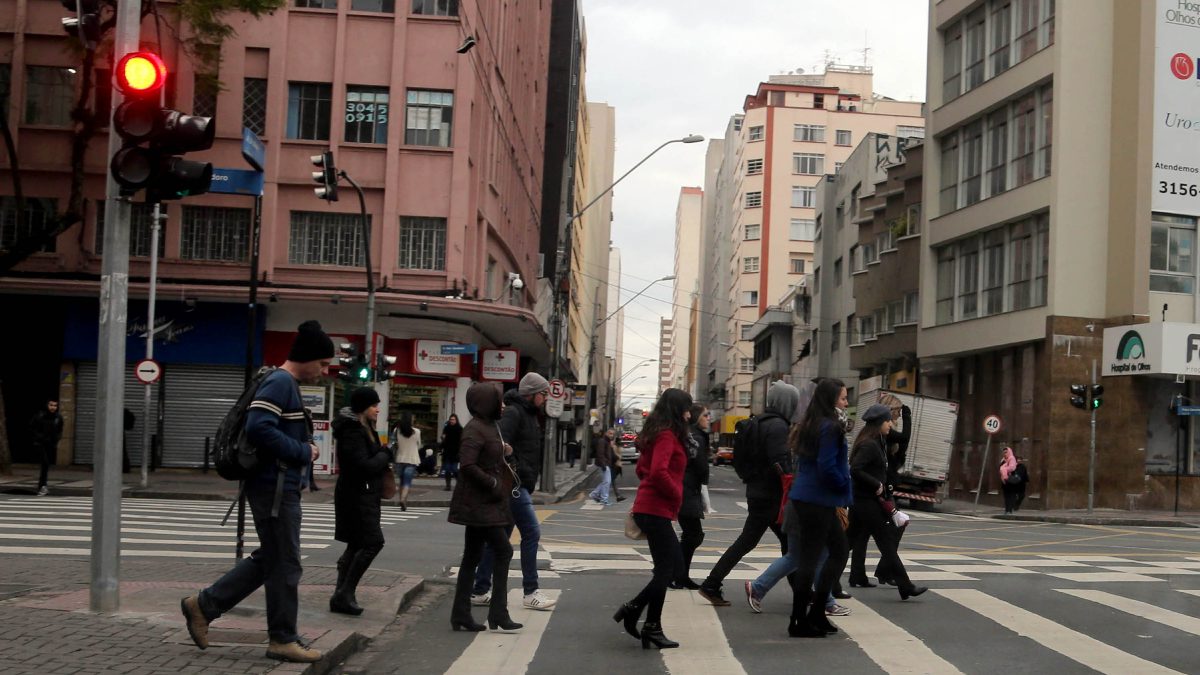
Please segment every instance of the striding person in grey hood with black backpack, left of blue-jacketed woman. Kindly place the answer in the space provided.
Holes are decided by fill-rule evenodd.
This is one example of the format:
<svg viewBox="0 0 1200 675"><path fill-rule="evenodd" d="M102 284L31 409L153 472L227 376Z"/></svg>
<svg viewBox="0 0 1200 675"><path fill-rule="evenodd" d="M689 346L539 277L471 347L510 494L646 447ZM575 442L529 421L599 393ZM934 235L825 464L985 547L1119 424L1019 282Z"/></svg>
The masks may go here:
<svg viewBox="0 0 1200 675"><path fill-rule="evenodd" d="M782 380L767 389L763 414L746 424L733 440L733 468L746 484L746 521L742 533L730 544L728 550L716 561L708 578L700 585L700 595L716 607L727 607L730 601L721 593L721 581L733 566L758 545L762 536L770 530L787 554L787 537L775 519L784 497L782 477L790 473L787 430L800 404L800 393ZM794 573L792 574L794 575ZM792 575L788 575L791 581Z"/></svg>

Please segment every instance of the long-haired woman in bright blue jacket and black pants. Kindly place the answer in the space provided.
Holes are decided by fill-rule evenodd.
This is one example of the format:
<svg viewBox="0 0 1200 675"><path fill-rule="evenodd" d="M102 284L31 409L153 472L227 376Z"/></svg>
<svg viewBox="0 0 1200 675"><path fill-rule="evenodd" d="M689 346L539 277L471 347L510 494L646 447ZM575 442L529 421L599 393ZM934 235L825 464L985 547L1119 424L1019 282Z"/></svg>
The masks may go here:
<svg viewBox="0 0 1200 675"><path fill-rule="evenodd" d="M797 456L796 478L788 498L800 531L800 568L792 586L792 617L787 634L793 638L823 638L838 628L824 611L824 598L846 567L846 532L838 507L850 506L850 464L846 435L838 420L838 408L846 407L846 387L840 380L817 383L804 420L791 435ZM812 586L822 549L829 557L821 578Z"/></svg>

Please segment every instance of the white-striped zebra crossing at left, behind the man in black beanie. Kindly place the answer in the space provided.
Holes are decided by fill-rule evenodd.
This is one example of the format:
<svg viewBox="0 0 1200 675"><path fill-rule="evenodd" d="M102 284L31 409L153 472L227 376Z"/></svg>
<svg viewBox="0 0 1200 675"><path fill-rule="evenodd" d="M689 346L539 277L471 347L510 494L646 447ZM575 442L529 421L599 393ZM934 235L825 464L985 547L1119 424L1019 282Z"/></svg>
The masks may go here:
<svg viewBox="0 0 1200 675"><path fill-rule="evenodd" d="M0 554L91 555L91 497L24 497L0 500ZM227 501L121 500L121 557L176 557L227 560L236 544L238 513L224 526ZM301 557L334 542L334 504L304 504L300 528ZM382 524L402 526L409 520L442 513L443 508L384 509ZM258 546L254 524L246 509L246 550Z"/></svg>

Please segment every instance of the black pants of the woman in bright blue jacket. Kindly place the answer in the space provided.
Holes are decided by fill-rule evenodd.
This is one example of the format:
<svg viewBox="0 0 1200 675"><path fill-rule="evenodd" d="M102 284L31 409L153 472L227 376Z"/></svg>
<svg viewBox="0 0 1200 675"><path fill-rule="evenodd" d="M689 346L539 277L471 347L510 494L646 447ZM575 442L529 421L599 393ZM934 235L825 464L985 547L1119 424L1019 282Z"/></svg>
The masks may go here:
<svg viewBox="0 0 1200 675"><path fill-rule="evenodd" d="M800 567L794 572L796 581L792 584L792 616L800 617L808 611L808 604L812 598L817 598L814 607L823 609L824 599L829 597L834 584L846 568L846 556L850 550L846 544L846 532L841 528L834 507L792 500L792 508L796 509L800 526ZM816 579L814 587L817 565L827 546L829 557L821 568L821 577Z"/></svg>

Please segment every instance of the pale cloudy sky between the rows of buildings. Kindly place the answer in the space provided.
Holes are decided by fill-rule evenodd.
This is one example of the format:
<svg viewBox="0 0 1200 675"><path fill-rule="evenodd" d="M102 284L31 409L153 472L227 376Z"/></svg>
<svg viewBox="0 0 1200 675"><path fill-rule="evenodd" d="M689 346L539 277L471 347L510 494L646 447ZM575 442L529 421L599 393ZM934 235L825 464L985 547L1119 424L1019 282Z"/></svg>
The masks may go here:
<svg viewBox="0 0 1200 675"><path fill-rule="evenodd" d="M587 95L617 110L616 175L664 141L724 133L730 115L770 74L822 72L828 59L875 68L875 90L925 97L926 0L582 0ZM672 144L613 192L624 301L672 273L679 187L703 186L707 143ZM625 307L624 366L658 357L660 283ZM626 399L658 390L658 364L625 382ZM642 399L640 402L646 401Z"/></svg>

